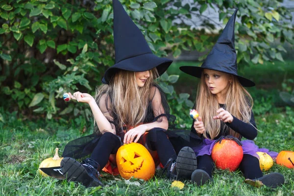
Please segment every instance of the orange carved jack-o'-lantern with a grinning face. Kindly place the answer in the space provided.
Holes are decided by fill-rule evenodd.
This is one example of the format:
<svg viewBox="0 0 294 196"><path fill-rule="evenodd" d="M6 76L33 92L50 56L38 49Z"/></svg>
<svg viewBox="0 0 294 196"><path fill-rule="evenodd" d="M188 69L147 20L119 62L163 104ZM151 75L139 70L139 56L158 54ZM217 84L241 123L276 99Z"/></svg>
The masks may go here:
<svg viewBox="0 0 294 196"><path fill-rule="evenodd" d="M155 174L155 164L150 153L141 144L130 143L118 149L116 161L124 179L131 177L148 180Z"/></svg>

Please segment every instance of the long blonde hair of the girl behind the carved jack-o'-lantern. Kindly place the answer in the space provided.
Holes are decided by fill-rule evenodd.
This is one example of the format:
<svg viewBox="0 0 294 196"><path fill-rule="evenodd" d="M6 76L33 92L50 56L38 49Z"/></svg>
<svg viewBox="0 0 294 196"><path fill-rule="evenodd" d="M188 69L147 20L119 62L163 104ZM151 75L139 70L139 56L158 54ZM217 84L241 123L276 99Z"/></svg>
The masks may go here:
<svg viewBox="0 0 294 196"><path fill-rule="evenodd" d="M111 105L107 106L107 110L117 118L115 120L118 127L134 127L146 118L147 106L155 93L151 92L151 87L154 79L158 77L156 68L149 72L150 76L143 87L137 85L135 72L120 70L113 75L109 85L103 84L96 90L97 103L104 94L105 102L110 98Z"/></svg>

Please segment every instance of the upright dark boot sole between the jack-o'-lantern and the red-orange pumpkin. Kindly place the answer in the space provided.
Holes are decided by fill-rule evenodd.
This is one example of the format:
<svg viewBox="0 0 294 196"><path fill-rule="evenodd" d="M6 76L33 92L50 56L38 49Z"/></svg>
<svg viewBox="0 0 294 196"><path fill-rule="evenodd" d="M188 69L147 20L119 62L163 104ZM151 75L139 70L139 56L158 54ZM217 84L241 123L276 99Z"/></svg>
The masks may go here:
<svg viewBox="0 0 294 196"><path fill-rule="evenodd" d="M197 169L197 158L191 147L183 147L177 156L175 168L177 179L190 179L191 174Z"/></svg>

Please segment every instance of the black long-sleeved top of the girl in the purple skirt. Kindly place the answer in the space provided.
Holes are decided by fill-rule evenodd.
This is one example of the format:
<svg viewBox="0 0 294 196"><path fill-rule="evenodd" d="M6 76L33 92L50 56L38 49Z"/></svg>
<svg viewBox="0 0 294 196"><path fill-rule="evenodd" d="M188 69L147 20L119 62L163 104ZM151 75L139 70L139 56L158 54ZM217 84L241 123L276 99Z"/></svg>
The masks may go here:
<svg viewBox="0 0 294 196"><path fill-rule="evenodd" d="M220 107L224 108L224 106L225 106L224 104L220 104ZM195 120L193 120L191 131L197 134L197 132L196 132L196 130L194 128L194 122L195 122ZM253 115L252 111L251 111L250 123L254 127L251 124L245 123L245 122L243 122L243 121L241 121L241 120L239 120L239 119L237 119L236 117L233 116L232 123L225 123L225 124L227 126L229 126L232 130L236 131L237 133L239 133L241 135L241 137L238 138L239 140L241 140L242 137L245 137L248 140L253 140L257 136L257 129L256 129L257 127L256 127L256 124L255 124L254 115ZM228 132L228 130L224 129L224 123L221 122L220 134L214 139L217 140L221 136L226 136L226 135L229 135L229 132ZM208 135L208 137L210 138L209 135Z"/></svg>

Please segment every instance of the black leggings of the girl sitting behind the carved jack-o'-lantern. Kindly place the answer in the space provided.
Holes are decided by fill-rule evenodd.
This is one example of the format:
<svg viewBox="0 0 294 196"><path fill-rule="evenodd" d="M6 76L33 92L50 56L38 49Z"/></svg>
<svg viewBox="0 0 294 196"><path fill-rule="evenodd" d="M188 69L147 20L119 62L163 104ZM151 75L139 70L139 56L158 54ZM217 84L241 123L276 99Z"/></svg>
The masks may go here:
<svg viewBox="0 0 294 196"><path fill-rule="evenodd" d="M157 150L159 160L164 166L170 158L176 159L172 143L168 139L164 129L150 129L147 134L146 142L151 150ZM119 137L113 133L106 132L101 136L90 158L97 161L100 169L102 169L107 164L110 154L115 154L119 147L121 147Z"/></svg>

